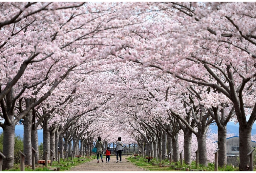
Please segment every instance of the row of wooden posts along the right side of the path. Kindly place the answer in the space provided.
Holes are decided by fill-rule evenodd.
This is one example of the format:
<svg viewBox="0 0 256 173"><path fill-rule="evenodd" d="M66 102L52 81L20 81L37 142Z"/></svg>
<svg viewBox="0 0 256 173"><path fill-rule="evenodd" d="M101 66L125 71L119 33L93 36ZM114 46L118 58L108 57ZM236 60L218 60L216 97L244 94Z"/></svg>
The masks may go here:
<svg viewBox="0 0 256 173"><path fill-rule="evenodd" d="M214 152L214 171L218 171L218 152L220 149L217 149ZM253 171L253 151L255 149L252 149L247 155L250 157L250 165L249 165L249 169L250 171ZM143 156L145 158L145 151L138 151L140 154L140 157ZM180 152L180 161L181 161L181 167L183 165L183 161L182 161L182 152L183 150ZM196 154L196 168L198 167L198 163L199 163L199 157L198 157L198 150L196 150L195 152ZM137 156L138 154L136 154L136 152L134 152L134 156ZM161 151L160 151L160 155L162 155ZM171 156L172 156L172 151L169 153L169 163L171 164ZM159 166L161 166L162 163L162 157L160 157L160 163Z"/></svg>

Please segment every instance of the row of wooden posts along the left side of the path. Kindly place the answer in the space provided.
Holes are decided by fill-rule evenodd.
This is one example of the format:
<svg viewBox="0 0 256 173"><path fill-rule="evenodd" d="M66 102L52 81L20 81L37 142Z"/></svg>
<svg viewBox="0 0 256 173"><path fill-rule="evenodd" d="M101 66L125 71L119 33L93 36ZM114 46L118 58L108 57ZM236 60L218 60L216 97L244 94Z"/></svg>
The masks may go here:
<svg viewBox="0 0 256 173"><path fill-rule="evenodd" d="M24 153L20 152L20 171L25 171L25 157L26 155ZM73 155L75 154L73 150L71 150L72 154L71 154L71 160L73 160ZM83 155L85 156L85 152L86 156L88 155L89 151L86 150L83 152ZM32 169L35 170L35 153L36 150L33 149L32 147ZM68 151L64 149L64 162L65 162L65 158L66 158L66 153L68 156ZM44 160L44 164L47 167L48 166L48 152L46 150L44 150L44 154L45 154L45 160ZM81 154L81 151L79 150L79 154ZM80 156L80 155L79 155ZM3 153L0 152L0 171L2 171L2 165L3 165L3 159L5 159L5 155ZM68 157L67 157L67 161L68 161ZM60 151L58 150L58 163L60 163ZM50 165L53 165L53 151L50 149Z"/></svg>

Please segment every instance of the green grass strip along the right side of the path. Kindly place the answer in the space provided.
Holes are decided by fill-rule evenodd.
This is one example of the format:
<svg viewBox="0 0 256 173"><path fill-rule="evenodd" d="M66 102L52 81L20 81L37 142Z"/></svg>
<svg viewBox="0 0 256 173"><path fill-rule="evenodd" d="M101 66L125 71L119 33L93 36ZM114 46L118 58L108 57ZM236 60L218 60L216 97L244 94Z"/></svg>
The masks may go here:
<svg viewBox="0 0 256 173"><path fill-rule="evenodd" d="M147 159L144 159L143 157L129 157L127 158L130 162L134 163L135 165L144 168L146 170L149 171L185 171L185 169L182 170L175 170L175 168L172 167L160 167L159 163L160 161L157 161L155 158L150 160L150 163L146 162ZM158 165L152 165L152 163L158 164ZM162 165L170 165L169 164L169 160L162 160L161 162ZM181 162L172 162L171 165L175 165L175 167L180 168L180 167L184 167L184 168L189 168L189 170L191 169L199 169L199 170L204 170L204 171L214 171L214 163L208 163L208 166L203 166L203 165L199 165L198 167L196 167L196 162L192 161L191 165L186 165L182 164L181 166ZM224 167L218 167L218 171L239 171L238 167L233 167L232 165L226 165Z"/></svg>

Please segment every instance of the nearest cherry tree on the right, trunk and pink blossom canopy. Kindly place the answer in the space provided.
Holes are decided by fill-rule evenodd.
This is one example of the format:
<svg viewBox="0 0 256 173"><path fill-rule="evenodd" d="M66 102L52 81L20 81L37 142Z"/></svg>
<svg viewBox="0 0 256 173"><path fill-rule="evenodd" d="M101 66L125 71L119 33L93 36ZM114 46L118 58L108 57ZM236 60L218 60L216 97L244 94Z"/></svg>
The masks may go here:
<svg viewBox="0 0 256 173"><path fill-rule="evenodd" d="M249 157L245 153L251 149L251 128L256 116L254 26L246 21L254 21L251 10L255 4L181 2L156 6L161 15L159 22L145 25L147 34L138 31L140 43L120 57L143 67L155 67L188 85L210 87L208 101L218 98L218 102L205 102L206 108L232 103L240 125L243 162L239 168L246 170ZM248 121L246 107L252 108Z"/></svg>

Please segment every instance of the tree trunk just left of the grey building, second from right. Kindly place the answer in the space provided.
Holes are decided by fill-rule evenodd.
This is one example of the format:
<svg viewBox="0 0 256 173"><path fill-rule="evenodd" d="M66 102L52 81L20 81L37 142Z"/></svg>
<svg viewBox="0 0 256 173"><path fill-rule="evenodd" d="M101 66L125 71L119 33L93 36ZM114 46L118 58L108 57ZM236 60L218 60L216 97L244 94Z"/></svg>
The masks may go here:
<svg viewBox="0 0 256 173"><path fill-rule="evenodd" d="M227 164L227 149L226 149L227 126L218 126L218 165L223 167Z"/></svg>

